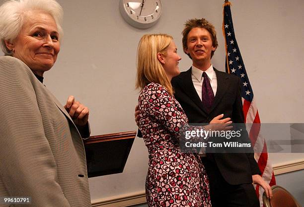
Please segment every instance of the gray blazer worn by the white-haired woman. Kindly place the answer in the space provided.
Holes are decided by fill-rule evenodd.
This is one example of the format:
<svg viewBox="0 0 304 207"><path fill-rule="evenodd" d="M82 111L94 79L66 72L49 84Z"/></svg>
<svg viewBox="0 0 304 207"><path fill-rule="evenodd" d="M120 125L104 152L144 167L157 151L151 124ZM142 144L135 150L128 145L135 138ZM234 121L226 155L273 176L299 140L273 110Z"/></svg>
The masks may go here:
<svg viewBox="0 0 304 207"><path fill-rule="evenodd" d="M71 117L23 62L0 57L0 197L7 196L31 197L16 207L91 206Z"/></svg>

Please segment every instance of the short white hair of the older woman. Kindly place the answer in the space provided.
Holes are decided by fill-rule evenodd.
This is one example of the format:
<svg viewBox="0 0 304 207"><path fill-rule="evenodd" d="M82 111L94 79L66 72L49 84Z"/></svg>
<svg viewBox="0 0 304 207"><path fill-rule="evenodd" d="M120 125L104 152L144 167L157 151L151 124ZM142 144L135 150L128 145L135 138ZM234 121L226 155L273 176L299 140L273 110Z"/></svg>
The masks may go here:
<svg viewBox="0 0 304 207"><path fill-rule="evenodd" d="M0 6L0 41L5 55L11 56L5 40L14 41L22 28L27 11L42 10L49 13L57 24L60 38L63 37L63 9L56 0L7 0Z"/></svg>

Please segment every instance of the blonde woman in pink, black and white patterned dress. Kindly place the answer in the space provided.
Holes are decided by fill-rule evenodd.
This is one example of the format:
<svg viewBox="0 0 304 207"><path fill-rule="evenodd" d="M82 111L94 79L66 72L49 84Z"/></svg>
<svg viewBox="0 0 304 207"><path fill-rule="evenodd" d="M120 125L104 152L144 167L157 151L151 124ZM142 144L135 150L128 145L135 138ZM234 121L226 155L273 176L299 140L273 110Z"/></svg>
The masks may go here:
<svg viewBox="0 0 304 207"><path fill-rule="evenodd" d="M173 96L172 77L181 58L171 36L144 35L138 46L139 127L149 151L149 207L211 207L206 171L197 154L179 149L178 132L188 123Z"/></svg>

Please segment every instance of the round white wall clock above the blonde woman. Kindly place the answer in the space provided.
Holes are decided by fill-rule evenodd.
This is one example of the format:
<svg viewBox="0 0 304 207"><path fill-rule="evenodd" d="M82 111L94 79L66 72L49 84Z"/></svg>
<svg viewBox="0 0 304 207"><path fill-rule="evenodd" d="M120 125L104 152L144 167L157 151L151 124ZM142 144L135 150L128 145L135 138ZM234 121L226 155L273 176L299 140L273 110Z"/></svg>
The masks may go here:
<svg viewBox="0 0 304 207"><path fill-rule="evenodd" d="M137 28L149 28L161 14L160 0L121 0L120 12L125 20Z"/></svg>

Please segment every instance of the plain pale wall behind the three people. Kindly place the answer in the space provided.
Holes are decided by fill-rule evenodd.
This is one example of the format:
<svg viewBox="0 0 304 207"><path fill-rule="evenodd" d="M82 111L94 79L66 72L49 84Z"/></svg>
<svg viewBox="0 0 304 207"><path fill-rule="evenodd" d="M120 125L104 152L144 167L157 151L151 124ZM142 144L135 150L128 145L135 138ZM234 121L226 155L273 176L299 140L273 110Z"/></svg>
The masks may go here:
<svg viewBox="0 0 304 207"><path fill-rule="evenodd" d="M45 73L45 84L63 104L73 94L90 108L92 135L137 129L135 59L143 34L171 34L182 57L180 69L186 70L191 60L182 52L183 23L189 18L205 17L218 31L220 46L213 64L225 69L224 0L162 0L162 16L147 30L133 28L123 20L119 0L58 1L65 11L65 37L56 65ZM304 1L231 2L236 39L261 121L304 123ZM304 156L272 156L273 163L299 157ZM136 138L122 174L89 179L91 199L143 191L147 162L146 146L142 139Z"/></svg>

